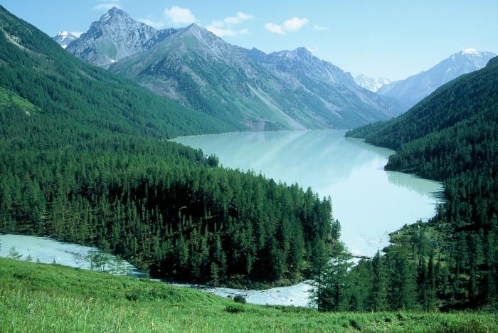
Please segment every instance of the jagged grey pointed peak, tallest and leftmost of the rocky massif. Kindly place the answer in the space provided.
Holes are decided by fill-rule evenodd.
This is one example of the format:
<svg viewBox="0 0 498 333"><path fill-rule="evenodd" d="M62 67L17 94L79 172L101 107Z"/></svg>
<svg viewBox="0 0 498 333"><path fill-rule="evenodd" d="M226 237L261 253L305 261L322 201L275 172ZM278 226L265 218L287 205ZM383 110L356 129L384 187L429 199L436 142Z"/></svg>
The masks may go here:
<svg viewBox="0 0 498 333"><path fill-rule="evenodd" d="M113 7L92 23L90 29L68 47L68 52L87 63L107 68L122 58L146 51L174 31L157 31Z"/></svg>

